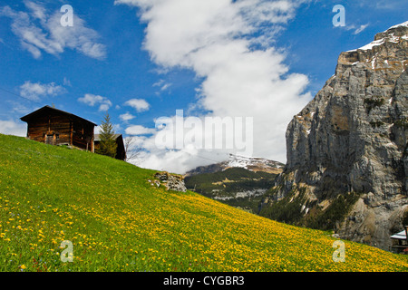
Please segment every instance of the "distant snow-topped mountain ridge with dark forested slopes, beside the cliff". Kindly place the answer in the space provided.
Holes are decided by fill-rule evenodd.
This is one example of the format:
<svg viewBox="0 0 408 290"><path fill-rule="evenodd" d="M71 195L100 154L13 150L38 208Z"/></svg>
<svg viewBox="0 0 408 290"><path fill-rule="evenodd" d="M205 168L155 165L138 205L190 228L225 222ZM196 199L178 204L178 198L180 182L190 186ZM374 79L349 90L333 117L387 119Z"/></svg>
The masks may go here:
<svg viewBox="0 0 408 290"><path fill-rule="evenodd" d="M186 187L206 197L257 214L264 194L284 164L229 154L229 159L187 172Z"/></svg>

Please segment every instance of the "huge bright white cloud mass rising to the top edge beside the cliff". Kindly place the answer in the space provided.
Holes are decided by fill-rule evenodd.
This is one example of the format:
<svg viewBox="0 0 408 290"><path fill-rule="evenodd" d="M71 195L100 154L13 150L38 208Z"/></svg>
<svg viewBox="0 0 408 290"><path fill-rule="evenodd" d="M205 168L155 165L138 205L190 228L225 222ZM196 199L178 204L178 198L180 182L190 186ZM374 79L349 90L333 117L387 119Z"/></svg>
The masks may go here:
<svg viewBox="0 0 408 290"><path fill-rule="evenodd" d="M305 92L308 78L290 73L287 55L274 46L274 37L303 2L116 0L115 4L140 7L141 20L147 24L143 47L154 63L165 69L190 69L203 80L197 88L199 101L191 106L197 114L253 118L253 156L285 162L287 124L312 96ZM194 160L191 154L201 154L186 148L150 150L151 164L154 160L167 164L163 159L176 160L175 156L188 162Z"/></svg>

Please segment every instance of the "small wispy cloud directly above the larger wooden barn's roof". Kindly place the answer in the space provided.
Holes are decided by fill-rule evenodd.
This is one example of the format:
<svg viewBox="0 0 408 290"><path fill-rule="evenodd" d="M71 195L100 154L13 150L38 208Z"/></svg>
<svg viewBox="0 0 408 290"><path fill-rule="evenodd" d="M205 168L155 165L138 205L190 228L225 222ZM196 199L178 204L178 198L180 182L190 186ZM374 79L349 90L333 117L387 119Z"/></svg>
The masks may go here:
<svg viewBox="0 0 408 290"><path fill-rule="evenodd" d="M41 83L26 81L20 86L20 95L32 101L39 101L40 97L56 96L63 94L66 90L54 82Z"/></svg>

